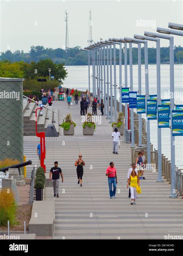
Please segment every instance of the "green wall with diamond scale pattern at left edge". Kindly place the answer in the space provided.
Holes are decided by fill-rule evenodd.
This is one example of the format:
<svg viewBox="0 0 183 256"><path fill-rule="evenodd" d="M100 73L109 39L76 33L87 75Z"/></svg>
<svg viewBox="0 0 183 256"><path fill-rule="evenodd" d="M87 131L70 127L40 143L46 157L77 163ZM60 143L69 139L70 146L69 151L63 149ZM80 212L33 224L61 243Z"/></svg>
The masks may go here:
<svg viewBox="0 0 183 256"><path fill-rule="evenodd" d="M23 81L0 78L0 160L16 158L23 162Z"/></svg>

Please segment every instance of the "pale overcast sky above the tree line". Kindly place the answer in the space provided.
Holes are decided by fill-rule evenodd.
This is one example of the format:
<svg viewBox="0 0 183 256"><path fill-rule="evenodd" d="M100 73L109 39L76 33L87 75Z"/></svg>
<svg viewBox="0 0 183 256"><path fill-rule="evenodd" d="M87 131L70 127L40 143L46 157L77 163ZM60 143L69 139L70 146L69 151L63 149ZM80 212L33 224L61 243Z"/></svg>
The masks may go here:
<svg viewBox="0 0 183 256"><path fill-rule="evenodd" d="M94 42L109 37L134 37L144 31L168 28L168 22L183 24L183 2L179 0L0 0L0 52L10 49L28 52L30 46L65 46L68 12L69 47L88 46L91 9ZM174 37L183 46L181 36ZM161 47L169 41L161 39ZM133 44L136 47L136 44ZM156 47L148 42L148 47Z"/></svg>

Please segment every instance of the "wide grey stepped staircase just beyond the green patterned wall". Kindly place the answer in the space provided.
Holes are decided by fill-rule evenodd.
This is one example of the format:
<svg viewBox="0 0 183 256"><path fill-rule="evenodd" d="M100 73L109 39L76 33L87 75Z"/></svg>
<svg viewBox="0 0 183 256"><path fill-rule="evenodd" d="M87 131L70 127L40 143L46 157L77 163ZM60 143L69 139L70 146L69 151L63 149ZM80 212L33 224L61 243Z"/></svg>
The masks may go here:
<svg viewBox="0 0 183 256"><path fill-rule="evenodd" d="M39 103L42 102L39 101ZM49 107L50 110L43 108L43 115L40 115L40 110L37 111L37 131L46 132L47 126L54 124L59 135L58 114L51 111L54 110L58 113L58 108L53 108L53 106L48 105L46 105L46 107ZM38 108L38 106L34 102L23 102L24 136L36 136L36 108Z"/></svg>

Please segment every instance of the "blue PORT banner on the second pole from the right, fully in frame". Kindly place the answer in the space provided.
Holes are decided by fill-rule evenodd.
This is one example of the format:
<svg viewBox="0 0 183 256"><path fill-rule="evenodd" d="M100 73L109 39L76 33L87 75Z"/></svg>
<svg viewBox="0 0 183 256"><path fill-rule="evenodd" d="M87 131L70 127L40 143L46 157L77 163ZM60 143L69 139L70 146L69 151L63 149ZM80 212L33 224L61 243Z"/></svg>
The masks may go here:
<svg viewBox="0 0 183 256"><path fill-rule="evenodd" d="M169 128L170 107L158 105L158 128Z"/></svg>

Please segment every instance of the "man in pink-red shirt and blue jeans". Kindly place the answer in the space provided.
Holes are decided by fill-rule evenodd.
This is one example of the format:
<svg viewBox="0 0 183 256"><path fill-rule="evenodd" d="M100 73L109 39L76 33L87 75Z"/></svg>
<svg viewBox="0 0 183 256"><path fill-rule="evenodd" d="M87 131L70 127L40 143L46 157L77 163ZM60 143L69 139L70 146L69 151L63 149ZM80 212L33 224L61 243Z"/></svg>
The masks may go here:
<svg viewBox="0 0 183 256"><path fill-rule="evenodd" d="M110 162L110 166L106 169L106 176L108 176L108 187L109 187L109 194L110 198L116 198L116 184L117 184L117 174L116 168L114 167L114 163ZM112 184L113 184L113 191L112 191Z"/></svg>

